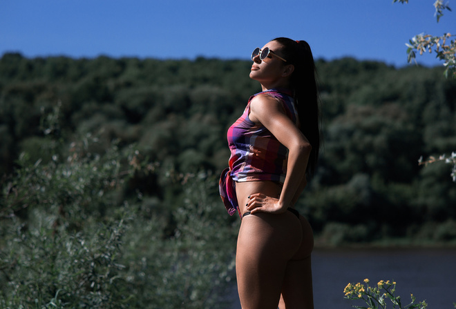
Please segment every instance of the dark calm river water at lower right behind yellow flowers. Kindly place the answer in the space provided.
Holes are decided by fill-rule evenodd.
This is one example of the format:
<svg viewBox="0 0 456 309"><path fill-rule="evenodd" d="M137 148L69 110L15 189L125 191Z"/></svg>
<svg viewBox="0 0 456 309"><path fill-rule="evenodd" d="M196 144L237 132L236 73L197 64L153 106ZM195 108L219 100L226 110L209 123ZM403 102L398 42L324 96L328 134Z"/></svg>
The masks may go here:
<svg viewBox="0 0 456 309"><path fill-rule="evenodd" d="M417 301L426 300L428 309L455 309L456 248L452 249L316 249L312 255L314 305L316 309L350 309L365 306L343 299L348 283L370 286L380 280L397 282L396 295L403 306L410 303L410 294ZM236 286L230 309L240 309ZM387 302L388 303L388 302ZM392 308L388 303L387 308Z"/></svg>

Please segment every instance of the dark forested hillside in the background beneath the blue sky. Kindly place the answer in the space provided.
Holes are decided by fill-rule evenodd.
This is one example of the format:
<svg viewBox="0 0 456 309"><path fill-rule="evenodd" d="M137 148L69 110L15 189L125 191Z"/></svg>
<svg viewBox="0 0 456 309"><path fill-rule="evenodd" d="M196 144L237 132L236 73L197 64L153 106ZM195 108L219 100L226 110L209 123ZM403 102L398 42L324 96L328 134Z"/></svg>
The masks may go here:
<svg viewBox="0 0 456 309"><path fill-rule="evenodd" d="M120 151L134 144L159 166L158 174L133 177L123 189L127 196L140 192L158 203L180 203L180 185L164 186L160 175L217 175L227 166L227 128L260 91L249 66L202 57L4 54L0 172L11 175L22 153L50 162L60 151L56 140L70 144L92 134L97 143L90 152L104 153L113 141ZM456 149L456 81L445 79L442 68L352 58L319 59L316 66L324 146L298 208L322 241L456 239L449 167L417 163Z"/></svg>

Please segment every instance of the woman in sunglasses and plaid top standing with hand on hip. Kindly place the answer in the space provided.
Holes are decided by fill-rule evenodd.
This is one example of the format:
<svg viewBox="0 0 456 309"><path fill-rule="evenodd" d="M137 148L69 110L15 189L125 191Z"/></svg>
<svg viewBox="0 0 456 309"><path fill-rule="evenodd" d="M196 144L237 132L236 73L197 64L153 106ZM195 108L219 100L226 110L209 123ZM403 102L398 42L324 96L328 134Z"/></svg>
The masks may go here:
<svg viewBox="0 0 456 309"><path fill-rule="evenodd" d="M312 228L294 210L320 146L314 59L305 41L277 38L251 55L262 92L229 128L220 196L242 221L236 276L243 309L314 308Z"/></svg>

